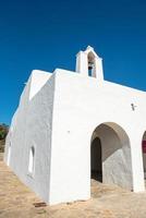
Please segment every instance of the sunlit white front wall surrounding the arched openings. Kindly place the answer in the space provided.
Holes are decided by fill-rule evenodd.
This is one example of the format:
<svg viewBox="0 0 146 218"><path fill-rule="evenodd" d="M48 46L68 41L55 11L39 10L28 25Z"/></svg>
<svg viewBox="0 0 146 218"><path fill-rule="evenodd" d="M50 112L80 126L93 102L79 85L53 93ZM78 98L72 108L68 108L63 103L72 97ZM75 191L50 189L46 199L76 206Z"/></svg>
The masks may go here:
<svg viewBox="0 0 146 218"><path fill-rule="evenodd" d="M63 70L57 70L56 84L50 204L90 197L90 138L105 122L117 123L126 132L132 174L125 182L135 192L144 191L141 143L146 126L145 93L106 81L98 84L96 78ZM132 102L137 106L135 111ZM124 150L122 155L126 157ZM121 174L123 171L121 167Z"/></svg>

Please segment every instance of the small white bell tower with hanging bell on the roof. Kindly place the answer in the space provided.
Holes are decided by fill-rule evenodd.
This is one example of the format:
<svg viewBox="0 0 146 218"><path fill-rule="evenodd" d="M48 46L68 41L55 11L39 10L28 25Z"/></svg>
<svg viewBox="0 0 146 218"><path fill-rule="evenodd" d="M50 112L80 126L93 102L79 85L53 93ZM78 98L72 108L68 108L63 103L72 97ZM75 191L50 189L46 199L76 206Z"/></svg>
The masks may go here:
<svg viewBox="0 0 146 218"><path fill-rule="evenodd" d="M97 56L93 47L88 46L85 51L77 53L76 72L84 76L96 77L98 82L104 81L102 59Z"/></svg>

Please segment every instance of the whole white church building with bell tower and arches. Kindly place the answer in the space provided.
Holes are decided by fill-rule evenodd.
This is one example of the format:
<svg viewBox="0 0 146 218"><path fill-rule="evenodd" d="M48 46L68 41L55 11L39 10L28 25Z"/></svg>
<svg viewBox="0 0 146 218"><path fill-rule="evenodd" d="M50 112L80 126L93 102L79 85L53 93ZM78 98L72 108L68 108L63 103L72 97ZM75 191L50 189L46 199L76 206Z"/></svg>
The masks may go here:
<svg viewBox="0 0 146 218"><path fill-rule="evenodd" d="M90 198L90 178L145 191L146 93L104 80L87 47L76 71L34 70L7 137L4 161L49 205Z"/></svg>

